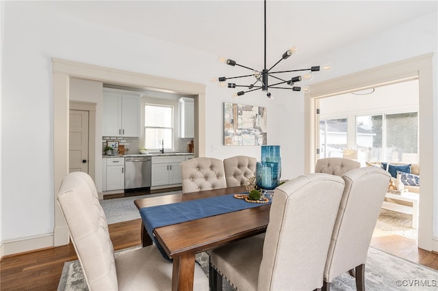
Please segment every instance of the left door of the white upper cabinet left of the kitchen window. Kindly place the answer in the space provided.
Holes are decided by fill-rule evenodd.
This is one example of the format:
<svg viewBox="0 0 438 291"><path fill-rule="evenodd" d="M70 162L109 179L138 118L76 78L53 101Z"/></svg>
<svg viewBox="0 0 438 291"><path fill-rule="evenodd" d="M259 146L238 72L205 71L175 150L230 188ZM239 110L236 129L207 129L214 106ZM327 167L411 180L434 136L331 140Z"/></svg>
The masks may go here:
<svg viewBox="0 0 438 291"><path fill-rule="evenodd" d="M120 137L122 133L122 94L103 93L102 135Z"/></svg>

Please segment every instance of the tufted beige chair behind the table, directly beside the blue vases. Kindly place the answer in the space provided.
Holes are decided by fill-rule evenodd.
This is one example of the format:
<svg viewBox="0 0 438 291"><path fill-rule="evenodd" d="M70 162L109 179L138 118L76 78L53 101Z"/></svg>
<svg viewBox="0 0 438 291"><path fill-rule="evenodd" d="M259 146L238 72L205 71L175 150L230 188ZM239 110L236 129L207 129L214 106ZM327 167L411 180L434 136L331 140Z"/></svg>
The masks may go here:
<svg viewBox="0 0 438 291"><path fill-rule="evenodd" d="M243 186L255 176L257 158L252 156L232 156L224 159L225 182L227 187Z"/></svg>

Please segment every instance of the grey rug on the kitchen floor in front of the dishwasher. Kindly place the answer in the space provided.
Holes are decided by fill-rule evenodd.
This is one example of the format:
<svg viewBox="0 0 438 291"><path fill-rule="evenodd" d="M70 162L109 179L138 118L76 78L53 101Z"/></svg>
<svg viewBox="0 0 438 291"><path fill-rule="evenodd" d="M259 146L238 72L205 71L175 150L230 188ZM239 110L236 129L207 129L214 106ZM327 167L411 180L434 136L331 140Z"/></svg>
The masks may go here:
<svg viewBox="0 0 438 291"><path fill-rule="evenodd" d="M101 202L103 212L105 212L105 217L107 217L107 223L112 224L141 218L140 212L138 211L136 204L134 204L134 200L136 199L164 196L177 193L182 192L172 191L158 194L130 196L123 198L99 200L99 202Z"/></svg>

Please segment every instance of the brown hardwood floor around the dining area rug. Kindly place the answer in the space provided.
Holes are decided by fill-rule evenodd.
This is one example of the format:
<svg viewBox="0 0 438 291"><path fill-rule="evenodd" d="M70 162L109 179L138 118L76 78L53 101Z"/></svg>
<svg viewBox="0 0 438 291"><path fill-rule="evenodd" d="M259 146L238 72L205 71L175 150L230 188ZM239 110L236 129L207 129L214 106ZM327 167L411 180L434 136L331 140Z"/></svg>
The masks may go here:
<svg viewBox="0 0 438 291"><path fill-rule="evenodd" d="M140 245L141 220L110 224L114 249ZM438 254L417 248L415 240L376 230L372 247L438 270ZM76 260L73 245L3 258L0 290L56 290L64 262Z"/></svg>

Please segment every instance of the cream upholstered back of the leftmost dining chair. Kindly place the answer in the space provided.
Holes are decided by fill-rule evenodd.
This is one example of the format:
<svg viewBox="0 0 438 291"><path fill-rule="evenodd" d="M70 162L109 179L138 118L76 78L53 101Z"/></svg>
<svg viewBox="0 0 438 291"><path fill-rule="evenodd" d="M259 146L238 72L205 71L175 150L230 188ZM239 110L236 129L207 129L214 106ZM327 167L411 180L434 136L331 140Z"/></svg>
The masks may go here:
<svg viewBox="0 0 438 291"><path fill-rule="evenodd" d="M70 237L90 290L117 290L114 248L94 182L75 171L62 181L57 195Z"/></svg>

